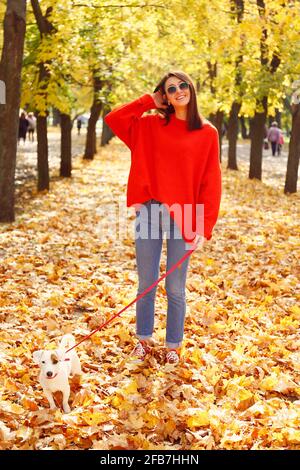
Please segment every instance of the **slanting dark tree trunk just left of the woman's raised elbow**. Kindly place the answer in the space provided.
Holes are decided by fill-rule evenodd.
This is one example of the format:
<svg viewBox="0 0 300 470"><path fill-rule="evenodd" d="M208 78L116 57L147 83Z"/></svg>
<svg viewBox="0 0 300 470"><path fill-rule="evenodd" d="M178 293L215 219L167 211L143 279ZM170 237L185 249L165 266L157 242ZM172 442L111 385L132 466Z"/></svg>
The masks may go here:
<svg viewBox="0 0 300 470"><path fill-rule="evenodd" d="M85 143L85 152L84 152L84 159L92 160L94 158L95 153L97 152L96 146L96 124L99 119L101 110L102 110L102 102L99 100L98 93L102 88L102 81L97 76L98 71L95 71L93 76L94 82L94 100L91 107L91 114L88 122L87 128L87 135L86 135L86 143Z"/></svg>

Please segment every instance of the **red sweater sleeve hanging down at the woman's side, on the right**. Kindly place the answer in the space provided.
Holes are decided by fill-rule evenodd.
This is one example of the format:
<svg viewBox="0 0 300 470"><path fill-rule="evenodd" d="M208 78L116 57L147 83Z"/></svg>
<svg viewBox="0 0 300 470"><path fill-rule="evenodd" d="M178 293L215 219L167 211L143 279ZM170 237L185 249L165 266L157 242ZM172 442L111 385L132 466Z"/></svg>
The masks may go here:
<svg viewBox="0 0 300 470"><path fill-rule="evenodd" d="M218 219L221 193L222 172L219 136L217 129L214 128L208 160L198 195L198 204L204 204L204 233L201 232L201 235L204 235L207 240L211 239L213 228ZM201 227L201 224L199 226Z"/></svg>

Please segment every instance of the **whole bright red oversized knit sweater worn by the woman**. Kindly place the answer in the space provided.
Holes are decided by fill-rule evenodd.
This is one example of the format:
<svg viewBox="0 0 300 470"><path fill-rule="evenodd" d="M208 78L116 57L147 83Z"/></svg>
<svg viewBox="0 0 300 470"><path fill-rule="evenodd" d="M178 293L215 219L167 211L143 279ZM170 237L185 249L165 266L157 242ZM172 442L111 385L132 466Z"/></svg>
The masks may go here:
<svg viewBox="0 0 300 470"><path fill-rule="evenodd" d="M175 114L167 125L158 114L142 116L152 108L157 107L147 93L104 118L131 150L127 207L137 210L156 199L167 207L186 242L196 233L209 240L221 201L218 131L207 121L202 129L189 131Z"/></svg>

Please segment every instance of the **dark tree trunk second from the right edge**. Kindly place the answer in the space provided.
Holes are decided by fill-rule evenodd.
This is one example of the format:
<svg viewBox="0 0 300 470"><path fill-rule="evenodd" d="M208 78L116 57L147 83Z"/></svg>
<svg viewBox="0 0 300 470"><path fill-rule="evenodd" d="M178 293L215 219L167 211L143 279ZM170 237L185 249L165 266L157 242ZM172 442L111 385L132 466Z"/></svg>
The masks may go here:
<svg viewBox="0 0 300 470"><path fill-rule="evenodd" d="M262 176L262 153L267 117L267 103L268 98L265 96L260 103L264 111L256 111L251 123L250 179L257 178L261 180Z"/></svg>

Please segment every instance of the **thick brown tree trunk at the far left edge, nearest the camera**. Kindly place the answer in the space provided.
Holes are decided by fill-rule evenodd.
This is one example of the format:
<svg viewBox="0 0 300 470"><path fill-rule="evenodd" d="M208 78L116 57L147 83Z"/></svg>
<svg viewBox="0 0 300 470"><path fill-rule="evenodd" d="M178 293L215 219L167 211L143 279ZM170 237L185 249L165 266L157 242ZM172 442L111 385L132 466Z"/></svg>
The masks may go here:
<svg viewBox="0 0 300 470"><path fill-rule="evenodd" d="M5 100L0 104L0 222L13 222L26 0L7 0L3 24L0 80Z"/></svg>

